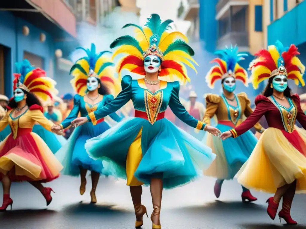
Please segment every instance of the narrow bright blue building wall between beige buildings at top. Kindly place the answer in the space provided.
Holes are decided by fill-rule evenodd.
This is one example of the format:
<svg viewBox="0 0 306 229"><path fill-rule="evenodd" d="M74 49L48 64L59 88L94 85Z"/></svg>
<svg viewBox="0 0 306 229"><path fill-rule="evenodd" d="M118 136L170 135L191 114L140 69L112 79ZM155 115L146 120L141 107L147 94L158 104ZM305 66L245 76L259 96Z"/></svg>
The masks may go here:
<svg viewBox="0 0 306 229"><path fill-rule="evenodd" d="M215 52L217 42L218 24L216 17L216 5L218 0L199 0L200 40L203 41L204 49Z"/></svg>

